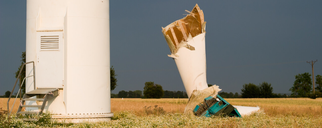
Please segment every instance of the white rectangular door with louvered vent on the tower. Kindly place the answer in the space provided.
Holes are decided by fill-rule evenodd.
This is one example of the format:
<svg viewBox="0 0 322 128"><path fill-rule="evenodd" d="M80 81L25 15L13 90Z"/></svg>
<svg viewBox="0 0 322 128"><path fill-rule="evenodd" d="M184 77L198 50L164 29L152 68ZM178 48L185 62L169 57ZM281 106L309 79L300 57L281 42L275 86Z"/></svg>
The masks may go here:
<svg viewBox="0 0 322 128"><path fill-rule="evenodd" d="M36 87L62 88L64 80L63 31L37 32Z"/></svg>

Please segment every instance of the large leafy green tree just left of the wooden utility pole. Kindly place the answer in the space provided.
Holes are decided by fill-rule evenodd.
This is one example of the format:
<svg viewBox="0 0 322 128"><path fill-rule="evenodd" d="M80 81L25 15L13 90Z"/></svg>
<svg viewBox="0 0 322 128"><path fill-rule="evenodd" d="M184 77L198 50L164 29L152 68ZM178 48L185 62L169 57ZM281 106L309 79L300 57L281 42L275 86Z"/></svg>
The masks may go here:
<svg viewBox="0 0 322 128"><path fill-rule="evenodd" d="M292 96L308 97L312 89L311 74L303 73L295 76L293 87L289 90L292 91Z"/></svg>

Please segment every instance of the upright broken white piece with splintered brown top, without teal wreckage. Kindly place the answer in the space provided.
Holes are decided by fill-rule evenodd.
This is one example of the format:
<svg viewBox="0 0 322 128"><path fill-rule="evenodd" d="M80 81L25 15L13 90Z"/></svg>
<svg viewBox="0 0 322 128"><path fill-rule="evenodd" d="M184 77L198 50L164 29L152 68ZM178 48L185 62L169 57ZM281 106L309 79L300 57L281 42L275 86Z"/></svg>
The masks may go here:
<svg viewBox="0 0 322 128"><path fill-rule="evenodd" d="M196 4L194 9L162 32L179 70L181 79L190 98L193 90L208 87L206 81L206 52L204 14Z"/></svg>

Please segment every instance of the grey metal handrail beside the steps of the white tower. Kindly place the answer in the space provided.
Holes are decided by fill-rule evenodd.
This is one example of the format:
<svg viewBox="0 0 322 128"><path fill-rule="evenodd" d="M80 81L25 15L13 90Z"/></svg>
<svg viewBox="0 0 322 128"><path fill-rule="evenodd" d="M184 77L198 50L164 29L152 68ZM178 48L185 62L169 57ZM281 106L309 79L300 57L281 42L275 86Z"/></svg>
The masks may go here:
<svg viewBox="0 0 322 128"><path fill-rule="evenodd" d="M33 63L33 89L36 89L36 82L35 82L35 62L34 61L30 61L30 62L27 62L27 63L24 63L22 66L21 66L21 69L20 69L20 72L19 72L19 75L18 75L18 77L17 77L17 79L16 79L16 82L14 83L14 88L16 87L16 84L17 84L17 82L18 82L18 79L19 79L19 81L20 81L20 75L21 75L21 72L22 72L22 70L24 69L24 66L26 65L26 64L29 64L29 63ZM28 76L28 77L32 77L32 76ZM28 77L25 77L25 78L28 78ZM24 78L24 79L25 79ZM20 82L19 82L19 84L20 84ZM22 86L22 84L20 84L19 85L20 87L19 87L19 91L21 92L21 86ZM10 96L9 96L9 99L8 99L8 102L7 102L7 109L8 109L8 111L9 111L9 101L10 101L10 98L11 98L11 96L12 96L12 93L14 92L14 88L12 89L12 91L11 91L11 93L10 93ZM18 92L19 93L19 92ZM17 93L17 96L18 96L18 93ZM17 99L17 96L16 96L16 99ZM21 97L21 96L20 96ZM14 101L16 101L16 99L14 100ZM11 111L10 111L10 113L8 113L8 116L11 114Z"/></svg>

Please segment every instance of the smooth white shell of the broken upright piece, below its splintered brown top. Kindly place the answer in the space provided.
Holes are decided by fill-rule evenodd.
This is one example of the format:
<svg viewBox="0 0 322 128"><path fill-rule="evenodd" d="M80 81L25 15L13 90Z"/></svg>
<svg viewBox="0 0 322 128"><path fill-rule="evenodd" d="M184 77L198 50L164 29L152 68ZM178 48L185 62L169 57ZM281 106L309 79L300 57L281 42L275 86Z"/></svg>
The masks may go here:
<svg viewBox="0 0 322 128"><path fill-rule="evenodd" d="M206 50L205 32L187 41L195 50L180 47L174 54L169 55L175 59L185 90L190 98L194 90L204 90L208 87L206 80Z"/></svg>

